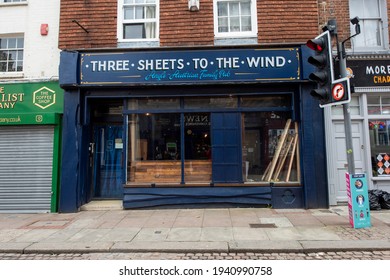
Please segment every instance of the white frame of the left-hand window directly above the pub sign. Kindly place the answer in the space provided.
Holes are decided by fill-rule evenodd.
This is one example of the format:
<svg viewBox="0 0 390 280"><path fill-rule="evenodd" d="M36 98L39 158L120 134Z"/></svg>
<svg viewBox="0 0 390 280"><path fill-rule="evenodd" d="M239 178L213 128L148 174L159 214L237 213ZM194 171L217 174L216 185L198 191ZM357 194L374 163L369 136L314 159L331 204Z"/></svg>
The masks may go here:
<svg viewBox="0 0 390 280"><path fill-rule="evenodd" d="M124 20L124 0L118 0L118 12L117 12L117 38L118 42L151 42L158 41L160 36L160 0L156 0L156 18L152 20L143 19L137 20ZM156 22L156 37L155 38L137 38L137 39L124 39L123 38L123 25L126 23L144 23L144 22Z"/></svg>

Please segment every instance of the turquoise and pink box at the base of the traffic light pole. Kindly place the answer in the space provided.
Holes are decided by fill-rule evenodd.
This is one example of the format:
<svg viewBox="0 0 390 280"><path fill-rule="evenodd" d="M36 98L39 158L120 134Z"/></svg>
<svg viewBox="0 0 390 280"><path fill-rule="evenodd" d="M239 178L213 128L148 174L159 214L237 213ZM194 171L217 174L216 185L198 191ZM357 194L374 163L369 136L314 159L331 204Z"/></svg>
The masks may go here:
<svg viewBox="0 0 390 280"><path fill-rule="evenodd" d="M371 227L367 176L345 173L347 180L349 223L353 228Z"/></svg>

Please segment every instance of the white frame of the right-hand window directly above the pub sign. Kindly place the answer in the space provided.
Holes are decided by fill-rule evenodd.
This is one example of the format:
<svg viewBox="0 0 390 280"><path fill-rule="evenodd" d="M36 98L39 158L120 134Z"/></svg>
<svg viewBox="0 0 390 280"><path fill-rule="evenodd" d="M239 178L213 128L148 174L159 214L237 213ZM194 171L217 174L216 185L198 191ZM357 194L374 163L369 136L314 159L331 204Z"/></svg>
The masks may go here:
<svg viewBox="0 0 390 280"><path fill-rule="evenodd" d="M243 32L219 32L218 31L218 3L219 2L242 2L244 0L214 0L214 36L216 38L248 38L257 37L257 1L248 0L251 3L251 31Z"/></svg>

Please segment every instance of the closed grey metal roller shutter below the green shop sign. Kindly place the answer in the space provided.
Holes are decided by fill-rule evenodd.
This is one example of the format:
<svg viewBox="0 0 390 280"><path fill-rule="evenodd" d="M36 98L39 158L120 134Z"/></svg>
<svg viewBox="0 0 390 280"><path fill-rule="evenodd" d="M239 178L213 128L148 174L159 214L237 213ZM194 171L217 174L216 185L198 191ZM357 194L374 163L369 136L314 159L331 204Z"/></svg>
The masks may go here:
<svg viewBox="0 0 390 280"><path fill-rule="evenodd" d="M0 126L0 212L50 212L53 126Z"/></svg>

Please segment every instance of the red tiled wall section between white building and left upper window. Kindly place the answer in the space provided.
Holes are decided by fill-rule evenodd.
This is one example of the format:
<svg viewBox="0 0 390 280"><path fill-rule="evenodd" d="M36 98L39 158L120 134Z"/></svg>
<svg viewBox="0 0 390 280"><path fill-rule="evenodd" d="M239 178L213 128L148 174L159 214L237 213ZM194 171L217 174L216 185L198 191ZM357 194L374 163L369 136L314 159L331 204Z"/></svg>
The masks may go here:
<svg viewBox="0 0 390 280"><path fill-rule="evenodd" d="M62 0L60 12L60 49L116 47L117 0Z"/></svg>

